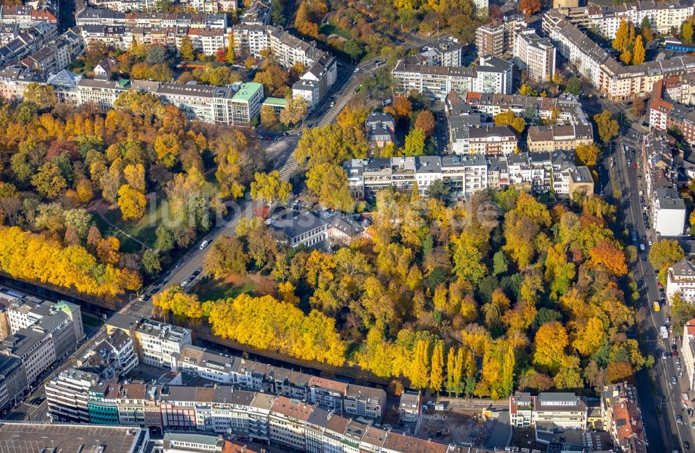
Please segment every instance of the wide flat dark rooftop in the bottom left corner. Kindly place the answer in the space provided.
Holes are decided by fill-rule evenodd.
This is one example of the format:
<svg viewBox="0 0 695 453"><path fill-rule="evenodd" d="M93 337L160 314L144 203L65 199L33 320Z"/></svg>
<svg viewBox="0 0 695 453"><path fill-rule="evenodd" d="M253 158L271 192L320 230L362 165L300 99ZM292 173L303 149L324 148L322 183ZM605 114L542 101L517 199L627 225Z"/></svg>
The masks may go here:
<svg viewBox="0 0 695 453"><path fill-rule="evenodd" d="M144 442L144 429L95 425L45 425L40 423L3 423L0 425L0 452L130 452ZM141 439L142 437L142 439ZM99 450L102 447L102 450Z"/></svg>

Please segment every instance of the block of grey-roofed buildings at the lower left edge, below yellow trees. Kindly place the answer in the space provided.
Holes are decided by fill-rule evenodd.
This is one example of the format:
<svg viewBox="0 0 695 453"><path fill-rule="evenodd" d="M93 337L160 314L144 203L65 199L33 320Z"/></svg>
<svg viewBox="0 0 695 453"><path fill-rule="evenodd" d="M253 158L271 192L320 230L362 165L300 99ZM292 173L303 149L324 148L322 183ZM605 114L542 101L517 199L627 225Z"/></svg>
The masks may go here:
<svg viewBox="0 0 695 453"><path fill-rule="evenodd" d="M80 307L0 292L0 408L21 398L37 377L83 340Z"/></svg>

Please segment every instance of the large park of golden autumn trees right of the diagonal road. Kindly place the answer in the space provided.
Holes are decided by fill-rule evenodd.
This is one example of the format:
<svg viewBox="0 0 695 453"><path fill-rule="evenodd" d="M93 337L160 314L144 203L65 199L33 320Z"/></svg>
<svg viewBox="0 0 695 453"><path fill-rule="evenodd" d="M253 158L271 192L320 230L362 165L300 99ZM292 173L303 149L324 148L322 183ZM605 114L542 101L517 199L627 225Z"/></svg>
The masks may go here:
<svg viewBox="0 0 695 453"><path fill-rule="evenodd" d="M452 204L386 188L355 204L340 164L366 152L361 121L348 106L336 124L302 135L295 157L309 195L370 211L368 238L292 249L261 218L243 219L208 249L203 273L272 283L220 299L167 288L154 297L157 314L259 352L457 395L600 389L653 364L632 330L646 313L635 309L637 252L614 206L541 202L516 187Z"/></svg>

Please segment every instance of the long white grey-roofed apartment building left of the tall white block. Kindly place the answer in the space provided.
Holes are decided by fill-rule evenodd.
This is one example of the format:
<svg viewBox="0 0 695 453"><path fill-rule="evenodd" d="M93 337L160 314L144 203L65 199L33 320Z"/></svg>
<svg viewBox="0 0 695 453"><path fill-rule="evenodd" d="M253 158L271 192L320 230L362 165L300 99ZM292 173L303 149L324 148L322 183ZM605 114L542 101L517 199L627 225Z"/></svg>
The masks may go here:
<svg viewBox="0 0 695 453"><path fill-rule="evenodd" d="M447 94L469 91L507 94L512 92L513 63L496 56L481 56L477 67L445 67L413 63L407 58L398 60L392 71L395 90L412 90L430 99L444 101Z"/></svg>

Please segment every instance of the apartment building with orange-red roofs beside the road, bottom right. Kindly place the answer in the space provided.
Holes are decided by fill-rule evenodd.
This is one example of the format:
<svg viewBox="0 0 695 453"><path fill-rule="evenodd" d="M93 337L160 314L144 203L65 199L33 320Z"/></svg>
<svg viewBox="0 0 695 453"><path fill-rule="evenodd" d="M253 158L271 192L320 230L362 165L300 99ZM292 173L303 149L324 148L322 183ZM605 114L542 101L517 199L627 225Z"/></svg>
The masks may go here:
<svg viewBox="0 0 695 453"><path fill-rule="evenodd" d="M635 386L627 382L605 386L600 409L603 427L610 432L616 447L623 452L648 451Z"/></svg>

